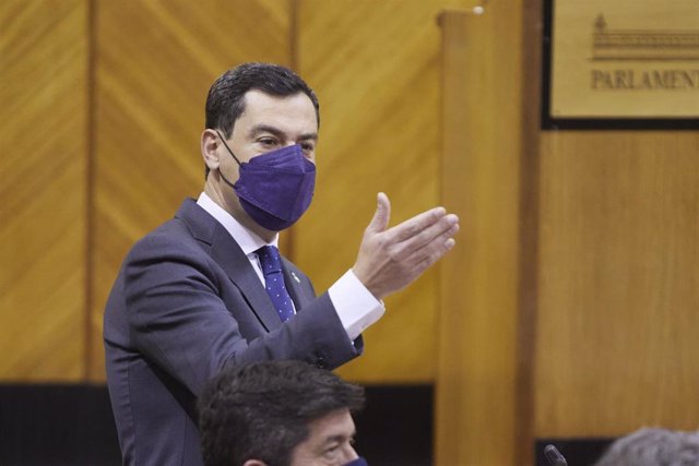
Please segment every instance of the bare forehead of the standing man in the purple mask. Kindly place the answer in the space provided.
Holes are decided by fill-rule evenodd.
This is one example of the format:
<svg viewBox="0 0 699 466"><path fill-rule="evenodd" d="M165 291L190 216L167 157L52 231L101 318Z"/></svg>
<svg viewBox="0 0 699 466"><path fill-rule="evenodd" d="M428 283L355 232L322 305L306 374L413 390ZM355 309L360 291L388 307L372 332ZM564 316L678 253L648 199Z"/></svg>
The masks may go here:
<svg viewBox="0 0 699 466"><path fill-rule="evenodd" d="M316 108L304 93L282 97L258 89L248 91L245 94L245 110L235 127L245 129L256 124L269 124L286 132L318 131Z"/></svg>

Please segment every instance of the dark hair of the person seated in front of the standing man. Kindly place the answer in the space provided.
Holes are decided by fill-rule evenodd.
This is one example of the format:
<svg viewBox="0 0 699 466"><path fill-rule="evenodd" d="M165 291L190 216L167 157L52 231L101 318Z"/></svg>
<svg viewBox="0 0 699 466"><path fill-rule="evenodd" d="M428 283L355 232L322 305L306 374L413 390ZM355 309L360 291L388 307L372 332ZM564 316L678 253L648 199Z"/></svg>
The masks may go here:
<svg viewBox="0 0 699 466"><path fill-rule="evenodd" d="M233 367L212 379L198 401L204 465L259 459L288 466L309 423L364 406L364 389L301 361Z"/></svg>

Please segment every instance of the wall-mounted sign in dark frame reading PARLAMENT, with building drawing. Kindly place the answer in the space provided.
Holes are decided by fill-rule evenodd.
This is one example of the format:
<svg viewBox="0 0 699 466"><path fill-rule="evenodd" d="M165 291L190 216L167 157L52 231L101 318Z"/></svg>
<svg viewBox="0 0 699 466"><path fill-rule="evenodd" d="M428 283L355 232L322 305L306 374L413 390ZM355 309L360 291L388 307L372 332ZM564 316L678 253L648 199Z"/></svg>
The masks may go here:
<svg viewBox="0 0 699 466"><path fill-rule="evenodd" d="M544 10L544 128L699 128L699 0Z"/></svg>

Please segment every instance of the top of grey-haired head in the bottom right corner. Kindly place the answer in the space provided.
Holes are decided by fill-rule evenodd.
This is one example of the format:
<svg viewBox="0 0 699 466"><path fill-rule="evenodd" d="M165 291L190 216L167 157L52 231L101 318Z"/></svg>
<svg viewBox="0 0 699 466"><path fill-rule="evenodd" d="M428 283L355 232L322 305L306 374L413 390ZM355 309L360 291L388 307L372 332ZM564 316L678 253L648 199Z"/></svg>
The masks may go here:
<svg viewBox="0 0 699 466"><path fill-rule="evenodd" d="M595 466L699 466L699 432L640 429L615 440Z"/></svg>

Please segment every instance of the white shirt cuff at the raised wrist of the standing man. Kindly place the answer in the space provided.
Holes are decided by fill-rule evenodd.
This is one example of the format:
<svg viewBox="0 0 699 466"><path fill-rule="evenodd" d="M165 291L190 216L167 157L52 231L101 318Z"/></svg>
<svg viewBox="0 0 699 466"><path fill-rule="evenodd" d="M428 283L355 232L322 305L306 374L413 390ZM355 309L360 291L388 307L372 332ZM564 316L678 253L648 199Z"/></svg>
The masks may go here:
<svg viewBox="0 0 699 466"><path fill-rule="evenodd" d="M342 325L350 339L354 340L369 325L381 319L386 308L348 270L328 290Z"/></svg>

